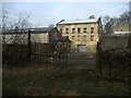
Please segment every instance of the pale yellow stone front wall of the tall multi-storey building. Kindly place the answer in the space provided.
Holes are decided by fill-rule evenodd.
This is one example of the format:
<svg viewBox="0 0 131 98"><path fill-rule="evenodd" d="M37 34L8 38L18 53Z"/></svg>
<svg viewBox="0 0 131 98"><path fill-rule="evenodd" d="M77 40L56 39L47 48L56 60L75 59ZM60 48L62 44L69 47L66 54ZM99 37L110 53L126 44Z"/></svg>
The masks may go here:
<svg viewBox="0 0 131 98"><path fill-rule="evenodd" d="M86 33L84 33L84 27L86 27ZM91 33L91 27L94 27L94 32ZM86 49L90 52L96 51L98 38L98 23L91 24L71 24L71 25L57 25L57 28L62 29L62 36L68 36L72 41L71 51L78 51L78 45L86 45ZM66 28L69 28L69 33L66 33ZM75 28L75 32L72 33L72 28ZM81 28L81 33L78 33L78 28ZM91 37L93 36L93 40Z"/></svg>

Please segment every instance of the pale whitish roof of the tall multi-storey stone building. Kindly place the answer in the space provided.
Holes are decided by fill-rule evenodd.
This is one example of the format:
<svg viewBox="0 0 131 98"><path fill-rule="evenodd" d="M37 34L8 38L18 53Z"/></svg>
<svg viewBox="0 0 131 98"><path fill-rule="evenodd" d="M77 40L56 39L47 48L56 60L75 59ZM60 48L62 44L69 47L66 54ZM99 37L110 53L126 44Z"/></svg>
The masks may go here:
<svg viewBox="0 0 131 98"><path fill-rule="evenodd" d="M97 23L99 19L87 19L87 20L62 20L58 23L59 24L86 24L86 23Z"/></svg>

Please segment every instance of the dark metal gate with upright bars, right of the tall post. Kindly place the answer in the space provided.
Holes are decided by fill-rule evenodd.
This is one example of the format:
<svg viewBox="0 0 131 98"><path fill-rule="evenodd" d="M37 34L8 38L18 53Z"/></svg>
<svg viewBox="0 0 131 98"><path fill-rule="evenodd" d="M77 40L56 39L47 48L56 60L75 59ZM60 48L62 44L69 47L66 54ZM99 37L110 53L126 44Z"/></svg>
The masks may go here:
<svg viewBox="0 0 131 98"><path fill-rule="evenodd" d="M63 46L63 45L62 45ZM68 65L68 47L58 48L48 44L31 44L31 61L41 65Z"/></svg>

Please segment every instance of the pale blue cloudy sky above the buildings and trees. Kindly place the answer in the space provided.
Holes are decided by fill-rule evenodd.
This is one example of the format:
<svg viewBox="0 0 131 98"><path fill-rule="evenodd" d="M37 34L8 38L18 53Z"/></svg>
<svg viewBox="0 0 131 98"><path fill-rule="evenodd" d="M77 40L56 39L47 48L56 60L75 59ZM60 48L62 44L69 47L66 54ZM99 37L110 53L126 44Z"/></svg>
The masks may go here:
<svg viewBox="0 0 131 98"><path fill-rule="evenodd" d="M20 11L31 14L36 26L48 26L60 20L85 20L110 15L119 16L129 10L128 2L3 2L2 8L13 16Z"/></svg>

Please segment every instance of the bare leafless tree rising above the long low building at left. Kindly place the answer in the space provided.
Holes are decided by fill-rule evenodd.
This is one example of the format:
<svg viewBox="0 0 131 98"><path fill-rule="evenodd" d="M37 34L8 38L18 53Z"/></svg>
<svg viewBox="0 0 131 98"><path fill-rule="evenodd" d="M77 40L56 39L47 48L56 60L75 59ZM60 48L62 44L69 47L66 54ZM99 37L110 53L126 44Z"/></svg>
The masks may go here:
<svg viewBox="0 0 131 98"><path fill-rule="evenodd" d="M31 14L22 11L15 15L15 19L12 20L8 16L7 11L3 11L2 14L2 30L3 33L12 33L9 38L9 41L16 42L25 42L27 40L27 34L23 32L27 32L25 29L31 28L32 24L29 22ZM21 34L23 33L23 34ZM3 35L4 38L4 35ZM5 38L4 38L5 39Z"/></svg>

